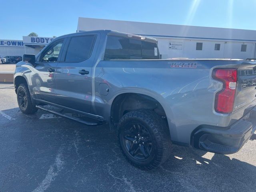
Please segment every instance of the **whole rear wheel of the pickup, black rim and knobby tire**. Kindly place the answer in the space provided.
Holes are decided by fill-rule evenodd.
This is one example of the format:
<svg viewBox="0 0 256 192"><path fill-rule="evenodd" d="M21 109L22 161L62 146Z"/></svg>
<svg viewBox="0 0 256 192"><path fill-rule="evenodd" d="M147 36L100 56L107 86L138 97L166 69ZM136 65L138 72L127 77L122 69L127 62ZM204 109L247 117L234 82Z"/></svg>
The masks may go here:
<svg viewBox="0 0 256 192"><path fill-rule="evenodd" d="M170 155L166 122L150 110L126 113L118 124L118 139L124 156L142 170L157 168Z"/></svg>

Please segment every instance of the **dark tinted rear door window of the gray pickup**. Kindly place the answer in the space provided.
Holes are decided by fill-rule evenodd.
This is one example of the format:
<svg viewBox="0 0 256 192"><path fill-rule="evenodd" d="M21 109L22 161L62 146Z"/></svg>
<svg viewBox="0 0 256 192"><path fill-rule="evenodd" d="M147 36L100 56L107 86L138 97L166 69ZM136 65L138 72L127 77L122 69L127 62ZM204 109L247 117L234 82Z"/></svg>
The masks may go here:
<svg viewBox="0 0 256 192"><path fill-rule="evenodd" d="M65 62L81 62L90 58L96 35L72 37L68 45Z"/></svg>

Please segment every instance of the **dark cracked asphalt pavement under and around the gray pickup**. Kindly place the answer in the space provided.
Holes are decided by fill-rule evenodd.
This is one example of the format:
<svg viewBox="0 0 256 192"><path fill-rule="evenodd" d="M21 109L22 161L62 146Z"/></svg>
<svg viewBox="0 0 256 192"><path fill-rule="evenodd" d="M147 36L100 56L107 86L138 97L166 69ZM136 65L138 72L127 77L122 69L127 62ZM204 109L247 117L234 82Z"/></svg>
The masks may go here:
<svg viewBox="0 0 256 192"><path fill-rule="evenodd" d="M174 145L149 172L126 161L107 125L22 114L13 84L0 84L0 101L0 192L256 191L255 135L231 155Z"/></svg>

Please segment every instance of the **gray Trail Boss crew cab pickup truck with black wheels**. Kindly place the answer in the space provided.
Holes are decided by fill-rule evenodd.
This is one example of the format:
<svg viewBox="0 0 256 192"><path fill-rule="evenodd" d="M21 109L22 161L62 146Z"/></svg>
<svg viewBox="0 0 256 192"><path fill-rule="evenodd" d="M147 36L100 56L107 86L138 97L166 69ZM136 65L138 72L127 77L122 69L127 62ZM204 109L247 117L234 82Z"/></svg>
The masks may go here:
<svg viewBox="0 0 256 192"><path fill-rule="evenodd" d="M255 62L161 60L154 38L111 30L60 36L25 54L14 85L25 114L39 108L109 124L124 156L144 170L162 164L172 144L235 153L256 129Z"/></svg>

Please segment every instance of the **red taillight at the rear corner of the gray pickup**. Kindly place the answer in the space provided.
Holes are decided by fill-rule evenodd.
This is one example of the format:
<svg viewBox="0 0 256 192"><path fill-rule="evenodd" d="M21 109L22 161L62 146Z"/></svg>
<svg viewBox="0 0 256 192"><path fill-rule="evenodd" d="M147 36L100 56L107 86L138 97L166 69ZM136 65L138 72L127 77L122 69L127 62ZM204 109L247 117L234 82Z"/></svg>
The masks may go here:
<svg viewBox="0 0 256 192"><path fill-rule="evenodd" d="M212 78L223 82L222 90L215 96L215 111L223 114L231 113L236 96L237 69L214 69Z"/></svg>

